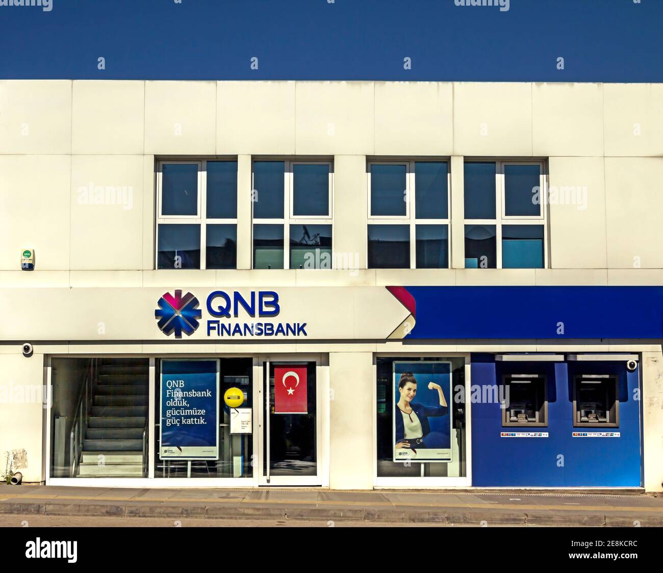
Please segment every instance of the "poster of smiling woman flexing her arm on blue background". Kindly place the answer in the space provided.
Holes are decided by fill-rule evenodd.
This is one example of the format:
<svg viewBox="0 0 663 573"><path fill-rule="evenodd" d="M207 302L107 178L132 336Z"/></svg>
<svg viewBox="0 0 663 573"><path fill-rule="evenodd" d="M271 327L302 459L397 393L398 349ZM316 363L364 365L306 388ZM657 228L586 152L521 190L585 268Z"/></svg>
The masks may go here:
<svg viewBox="0 0 663 573"><path fill-rule="evenodd" d="M451 362L394 362L394 462L452 460Z"/></svg>

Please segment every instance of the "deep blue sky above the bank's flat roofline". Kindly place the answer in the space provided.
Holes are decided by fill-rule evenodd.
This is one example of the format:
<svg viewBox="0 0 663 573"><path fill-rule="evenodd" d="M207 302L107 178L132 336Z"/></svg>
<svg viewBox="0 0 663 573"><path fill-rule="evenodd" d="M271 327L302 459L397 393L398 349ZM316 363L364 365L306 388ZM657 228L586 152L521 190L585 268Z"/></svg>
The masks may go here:
<svg viewBox="0 0 663 573"><path fill-rule="evenodd" d="M13 1L0 79L663 81L663 0Z"/></svg>

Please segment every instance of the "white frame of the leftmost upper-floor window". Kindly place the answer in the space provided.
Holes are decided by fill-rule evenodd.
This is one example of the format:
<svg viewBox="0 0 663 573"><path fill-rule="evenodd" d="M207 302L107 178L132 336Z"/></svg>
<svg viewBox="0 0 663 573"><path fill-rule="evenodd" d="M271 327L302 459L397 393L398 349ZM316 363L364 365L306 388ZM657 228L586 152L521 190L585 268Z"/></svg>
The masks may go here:
<svg viewBox="0 0 663 573"><path fill-rule="evenodd" d="M167 160L157 162L156 171L156 218L154 225L154 269L171 270L159 268L159 225L199 225L200 227L200 268L177 269L177 270L232 270L232 269L208 269L207 268L207 226L208 225L235 225L237 234L237 217L234 219L207 218L207 164L208 162L233 162L237 164L236 157L206 158L198 160ZM161 215L162 191L163 191L163 166L170 164L193 164L198 165L198 214L197 215ZM239 166L238 166L239 168ZM238 183L239 187L239 183ZM238 197L238 189L235 189L235 201ZM239 206L239 205L238 205ZM237 265L235 265L235 268Z"/></svg>

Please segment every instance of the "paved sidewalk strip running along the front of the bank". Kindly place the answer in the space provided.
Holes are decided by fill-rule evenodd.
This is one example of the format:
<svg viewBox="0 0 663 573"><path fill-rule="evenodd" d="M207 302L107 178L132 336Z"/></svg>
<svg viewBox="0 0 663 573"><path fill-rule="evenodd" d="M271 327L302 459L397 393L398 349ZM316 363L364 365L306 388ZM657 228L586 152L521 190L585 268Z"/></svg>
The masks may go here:
<svg viewBox="0 0 663 573"><path fill-rule="evenodd" d="M663 526L663 496L473 490L150 489L0 485L0 513L475 525ZM483 523L485 522L485 523ZM103 526L103 520L99 521Z"/></svg>

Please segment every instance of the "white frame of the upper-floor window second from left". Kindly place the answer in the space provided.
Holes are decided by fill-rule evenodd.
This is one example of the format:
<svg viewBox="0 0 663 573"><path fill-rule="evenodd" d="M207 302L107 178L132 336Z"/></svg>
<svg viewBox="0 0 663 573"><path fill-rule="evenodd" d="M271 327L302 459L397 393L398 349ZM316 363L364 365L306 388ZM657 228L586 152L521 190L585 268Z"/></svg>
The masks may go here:
<svg viewBox="0 0 663 573"><path fill-rule="evenodd" d="M333 230L333 159L322 158L292 158L278 156L253 156L251 158L251 189L255 189L256 162L272 161L283 162L283 213L282 217L254 217L254 201L251 201L251 270L331 270L333 265L333 253L335 245L335 233ZM293 215L294 207L294 171L295 165L327 165L329 167L329 215ZM255 244L253 237L254 225L280 225L283 229L283 268L282 269L256 269L255 268ZM290 225L331 225L331 267L314 269L291 269L290 268Z"/></svg>

